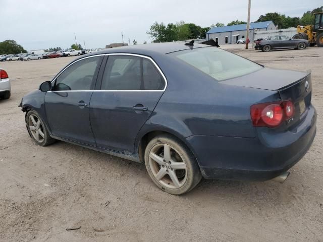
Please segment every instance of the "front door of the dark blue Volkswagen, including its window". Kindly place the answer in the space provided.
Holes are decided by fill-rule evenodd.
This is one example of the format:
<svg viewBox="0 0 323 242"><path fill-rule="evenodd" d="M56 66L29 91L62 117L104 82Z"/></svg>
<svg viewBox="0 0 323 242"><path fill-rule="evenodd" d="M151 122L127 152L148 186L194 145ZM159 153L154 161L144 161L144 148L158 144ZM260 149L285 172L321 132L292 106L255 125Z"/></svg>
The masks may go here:
<svg viewBox="0 0 323 242"><path fill-rule="evenodd" d="M45 109L52 135L95 146L89 104L102 55L78 59L52 82Z"/></svg>

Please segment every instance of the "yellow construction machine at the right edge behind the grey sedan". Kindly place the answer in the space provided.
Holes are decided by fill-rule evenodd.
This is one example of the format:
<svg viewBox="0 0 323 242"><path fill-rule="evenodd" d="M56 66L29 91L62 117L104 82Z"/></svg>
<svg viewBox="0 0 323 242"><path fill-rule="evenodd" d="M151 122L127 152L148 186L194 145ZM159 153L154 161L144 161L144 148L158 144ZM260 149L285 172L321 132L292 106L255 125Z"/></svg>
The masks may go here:
<svg viewBox="0 0 323 242"><path fill-rule="evenodd" d="M315 13L314 25L297 26L297 34L294 39L307 39L310 46L317 44L318 47L323 47L323 12Z"/></svg>

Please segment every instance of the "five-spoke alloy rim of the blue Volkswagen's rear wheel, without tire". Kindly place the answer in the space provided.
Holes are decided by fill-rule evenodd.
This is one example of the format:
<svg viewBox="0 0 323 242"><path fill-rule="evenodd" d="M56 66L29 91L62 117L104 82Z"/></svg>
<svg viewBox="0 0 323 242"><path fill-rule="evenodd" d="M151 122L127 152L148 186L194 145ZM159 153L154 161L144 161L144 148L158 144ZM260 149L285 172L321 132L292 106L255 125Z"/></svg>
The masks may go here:
<svg viewBox="0 0 323 242"><path fill-rule="evenodd" d="M187 167L178 151L167 144L157 144L150 150L149 166L161 185L178 189L187 180Z"/></svg>

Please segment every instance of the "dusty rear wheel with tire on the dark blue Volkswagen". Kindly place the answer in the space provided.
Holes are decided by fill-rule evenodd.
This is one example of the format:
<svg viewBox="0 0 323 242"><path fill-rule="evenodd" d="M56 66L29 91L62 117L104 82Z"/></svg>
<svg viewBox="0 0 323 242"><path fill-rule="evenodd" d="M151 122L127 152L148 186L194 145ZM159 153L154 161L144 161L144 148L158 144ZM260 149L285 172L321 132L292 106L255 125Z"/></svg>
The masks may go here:
<svg viewBox="0 0 323 242"><path fill-rule="evenodd" d="M167 148L170 155L164 155ZM145 149L144 157L150 178L164 192L173 195L187 193L202 178L192 152L171 135L153 138Z"/></svg>

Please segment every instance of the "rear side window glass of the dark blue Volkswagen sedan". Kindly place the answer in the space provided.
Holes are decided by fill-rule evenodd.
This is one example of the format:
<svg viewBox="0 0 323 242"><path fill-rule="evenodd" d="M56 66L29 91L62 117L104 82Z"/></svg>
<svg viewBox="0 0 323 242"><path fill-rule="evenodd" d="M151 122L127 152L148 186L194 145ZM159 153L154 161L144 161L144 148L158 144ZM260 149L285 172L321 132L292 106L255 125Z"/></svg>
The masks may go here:
<svg viewBox="0 0 323 242"><path fill-rule="evenodd" d="M165 80L147 58L110 55L105 66L101 90L163 90Z"/></svg>

